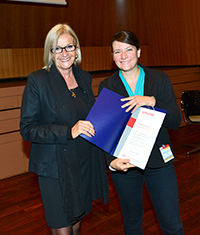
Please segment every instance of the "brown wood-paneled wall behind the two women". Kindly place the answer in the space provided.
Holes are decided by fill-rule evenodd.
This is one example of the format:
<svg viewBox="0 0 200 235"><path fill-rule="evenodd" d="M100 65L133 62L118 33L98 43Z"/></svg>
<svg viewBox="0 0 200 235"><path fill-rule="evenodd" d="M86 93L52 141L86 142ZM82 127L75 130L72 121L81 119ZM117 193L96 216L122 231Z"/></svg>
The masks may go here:
<svg viewBox="0 0 200 235"><path fill-rule="evenodd" d="M28 170L30 148L19 134L25 81L8 78L26 77L43 67L44 40L57 23L69 23L76 32L83 55L81 67L99 71L93 76L96 96L99 82L107 76L100 70L113 69L109 46L121 29L138 36L143 65L162 66L170 76L179 105L182 90L200 89L199 0L67 2L67 6L56 6L0 1L0 179ZM165 66L187 68L168 70Z"/></svg>

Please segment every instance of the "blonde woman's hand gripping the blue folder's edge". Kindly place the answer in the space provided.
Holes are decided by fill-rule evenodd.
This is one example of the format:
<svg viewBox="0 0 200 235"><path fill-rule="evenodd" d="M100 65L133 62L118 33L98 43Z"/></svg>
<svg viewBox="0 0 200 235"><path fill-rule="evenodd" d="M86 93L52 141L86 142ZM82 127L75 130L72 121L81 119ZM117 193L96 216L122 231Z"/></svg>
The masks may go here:
<svg viewBox="0 0 200 235"><path fill-rule="evenodd" d="M84 134L88 137L95 135L94 126L89 121L79 120L71 129L72 138L77 138L80 134Z"/></svg>

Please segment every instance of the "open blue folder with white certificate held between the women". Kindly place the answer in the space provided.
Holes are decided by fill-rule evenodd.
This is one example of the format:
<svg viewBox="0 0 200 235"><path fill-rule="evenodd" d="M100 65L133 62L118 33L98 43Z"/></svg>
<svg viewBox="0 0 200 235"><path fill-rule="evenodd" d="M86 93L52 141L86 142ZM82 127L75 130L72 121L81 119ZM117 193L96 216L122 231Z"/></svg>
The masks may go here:
<svg viewBox="0 0 200 235"><path fill-rule="evenodd" d="M121 108L122 96L103 88L86 120L95 128L96 135L87 137L109 154L128 158L134 166L144 169L166 110L140 107L133 114Z"/></svg>

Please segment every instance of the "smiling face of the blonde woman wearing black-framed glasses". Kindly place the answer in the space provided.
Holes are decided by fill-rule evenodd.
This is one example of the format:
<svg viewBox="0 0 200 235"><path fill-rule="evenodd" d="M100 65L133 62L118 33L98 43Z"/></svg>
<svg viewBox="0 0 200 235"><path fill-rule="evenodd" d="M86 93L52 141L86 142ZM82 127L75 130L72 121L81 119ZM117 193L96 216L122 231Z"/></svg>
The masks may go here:
<svg viewBox="0 0 200 235"><path fill-rule="evenodd" d="M66 47L74 45L74 38L68 34L61 34L58 38L57 47ZM53 61L56 63L58 70L61 73L65 73L67 70L72 68L77 54L77 48L74 51L66 52L65 49L62 50L62 53L52 53ZM56 60L55 60L56 58Z"/></svg>

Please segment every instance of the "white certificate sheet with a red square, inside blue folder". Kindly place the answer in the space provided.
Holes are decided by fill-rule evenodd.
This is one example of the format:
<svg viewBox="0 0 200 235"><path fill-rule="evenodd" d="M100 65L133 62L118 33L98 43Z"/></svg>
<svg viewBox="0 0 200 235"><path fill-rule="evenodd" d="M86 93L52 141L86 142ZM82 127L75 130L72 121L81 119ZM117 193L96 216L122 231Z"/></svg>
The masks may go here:
<svg viewBox="0 0 200 235"><path fill-rule="evenodd" d="M131 164L144 169L165 115L165 112L145 107L136 110L124 129L114 156L130 159Z"/></svg>

